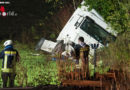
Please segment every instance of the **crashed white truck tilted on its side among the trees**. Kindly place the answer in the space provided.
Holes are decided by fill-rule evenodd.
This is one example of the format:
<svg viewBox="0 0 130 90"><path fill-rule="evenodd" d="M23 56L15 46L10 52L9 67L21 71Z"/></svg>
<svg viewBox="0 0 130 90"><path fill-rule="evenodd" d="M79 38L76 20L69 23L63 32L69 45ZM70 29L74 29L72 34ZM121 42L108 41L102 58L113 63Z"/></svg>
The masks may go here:
<svg viewBox="0 0 130 90"><path fill-rule="evenodd" d="M43 50L49 53L55 53L56 48L59 46L67 45L67 43L73 42L78 44L78 38L82 36L85 39L85 43L99 44L99 48L108 46L109 42L116 39L117 33L112 30L109 24L107 24L103 17L100 16L96 10L88 10L87 6L84 6L84 2L81 3L81 7L78 7L71 18L68 20L64 28L57 37L57 42L46 40L42 38L36 46L36 50ZM93 55L94 50L90 48L90 54Z"/></svg>

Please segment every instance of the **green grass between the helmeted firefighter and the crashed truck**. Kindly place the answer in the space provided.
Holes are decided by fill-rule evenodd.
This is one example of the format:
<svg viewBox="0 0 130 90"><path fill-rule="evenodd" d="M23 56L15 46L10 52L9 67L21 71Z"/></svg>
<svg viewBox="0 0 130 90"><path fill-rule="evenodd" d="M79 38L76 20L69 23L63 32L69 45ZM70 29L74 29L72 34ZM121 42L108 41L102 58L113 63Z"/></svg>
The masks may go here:
<svg viewBox="0 0 130 90"><path fill-rule="evenodd" d="M0 46L3 45L0 44ZM55 61L50 61L45 54L42 52L36 52L27 45L16 43L14 46L21 56L21 61L17 63L16 66L16 87L37 86L40 84L57 85L60 83L58 81ZM0 47L0 50L3 48L4 47ZM2 60L0 60L0 66L2 67ZM0 85L2 86L1 75Z"/></svg>

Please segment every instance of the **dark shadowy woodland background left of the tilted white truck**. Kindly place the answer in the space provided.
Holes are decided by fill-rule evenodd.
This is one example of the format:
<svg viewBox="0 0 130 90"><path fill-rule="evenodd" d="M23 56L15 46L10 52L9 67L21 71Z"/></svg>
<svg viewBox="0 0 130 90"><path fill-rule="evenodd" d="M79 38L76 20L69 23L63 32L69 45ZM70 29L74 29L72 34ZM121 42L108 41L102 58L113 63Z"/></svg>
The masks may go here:
<svg viewBox="0 0 130 90"><path fill-rule="evenodd" d="M2 1L2 0L1 0ZM74 12L73 0L46 2L45 0L7 0L0 5L18 16L0 16L0 40L13 39L26 43L41 37L55 39ZM76 0L76 6L81 0Z"/></svg>

